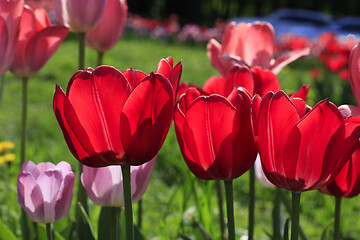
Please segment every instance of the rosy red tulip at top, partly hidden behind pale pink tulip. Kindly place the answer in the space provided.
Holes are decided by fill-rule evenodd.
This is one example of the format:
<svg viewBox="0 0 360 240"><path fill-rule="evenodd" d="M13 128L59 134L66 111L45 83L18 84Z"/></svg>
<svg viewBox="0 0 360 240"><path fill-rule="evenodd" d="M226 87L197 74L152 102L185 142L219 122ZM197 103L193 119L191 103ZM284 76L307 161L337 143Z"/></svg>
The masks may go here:
<svg viewBox="0 0 360 240"><path fill-rule="evenodd" d="M108 0L100 23L86 34L86 44L98 52L113 48L124 30L127 11L126 0Z"/></svg>

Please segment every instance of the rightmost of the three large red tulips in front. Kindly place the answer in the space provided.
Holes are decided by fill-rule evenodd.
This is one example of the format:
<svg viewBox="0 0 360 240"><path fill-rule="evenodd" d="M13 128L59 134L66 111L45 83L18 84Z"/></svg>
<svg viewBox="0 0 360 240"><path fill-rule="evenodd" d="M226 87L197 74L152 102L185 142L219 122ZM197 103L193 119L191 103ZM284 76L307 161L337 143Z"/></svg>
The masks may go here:
<svg viewBox="0 0 360 240"><path fill-rule="evenodd" d="M328 100L310 109L279 91L254 97L251 106L262 166L278 187L303 192L328 184L358 144L360 117L344 120Z"/></svg>

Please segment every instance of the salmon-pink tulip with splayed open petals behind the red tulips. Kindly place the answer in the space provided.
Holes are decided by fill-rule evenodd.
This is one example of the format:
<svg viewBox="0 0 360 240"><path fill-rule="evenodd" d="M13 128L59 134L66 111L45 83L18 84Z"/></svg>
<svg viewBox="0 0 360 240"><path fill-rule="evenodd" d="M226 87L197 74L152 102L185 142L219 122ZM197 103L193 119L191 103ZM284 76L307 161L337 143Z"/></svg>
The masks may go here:
<svg viewBox="0 0 360 240"><path fill-rule="evenodd" d="M275 60L275 32L272 25L267 22L232 22L225 29L222 43L211 39L207 51L211 64L223 76L226 76L232 66L231 59L249 67L258 66L277 74L284 66L310 52L308 48L297 49Z"/></svg>

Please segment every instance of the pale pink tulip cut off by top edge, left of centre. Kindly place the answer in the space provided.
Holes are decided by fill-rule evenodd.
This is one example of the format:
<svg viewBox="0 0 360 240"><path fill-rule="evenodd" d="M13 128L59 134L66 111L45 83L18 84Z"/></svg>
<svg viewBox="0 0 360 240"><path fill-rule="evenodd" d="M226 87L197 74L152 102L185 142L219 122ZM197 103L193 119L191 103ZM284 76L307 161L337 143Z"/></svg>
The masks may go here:
<svg viewBox="0 0 360 240"><path fill-rule="evenodd" d="M53 0L55 17L73 32L89 32L99 23L107 0ZM118 23L113 23L118 24Z"/></svg>

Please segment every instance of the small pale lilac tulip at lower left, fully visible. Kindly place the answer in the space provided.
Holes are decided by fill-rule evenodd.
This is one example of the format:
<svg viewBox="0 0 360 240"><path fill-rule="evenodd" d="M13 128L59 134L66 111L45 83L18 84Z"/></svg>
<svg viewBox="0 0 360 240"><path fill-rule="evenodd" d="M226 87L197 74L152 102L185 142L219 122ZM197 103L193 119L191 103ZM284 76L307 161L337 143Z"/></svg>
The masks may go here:
<svg viewBox="0 0 360 240"><path fill-rule="evenodd" d="M68 215L73 186L69 163L26 161L17 181L18 202L34 222L53 223Z"/></svg>

